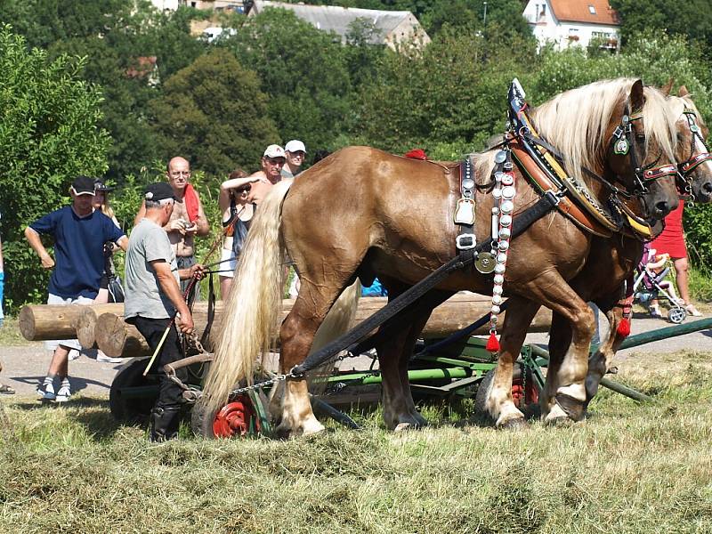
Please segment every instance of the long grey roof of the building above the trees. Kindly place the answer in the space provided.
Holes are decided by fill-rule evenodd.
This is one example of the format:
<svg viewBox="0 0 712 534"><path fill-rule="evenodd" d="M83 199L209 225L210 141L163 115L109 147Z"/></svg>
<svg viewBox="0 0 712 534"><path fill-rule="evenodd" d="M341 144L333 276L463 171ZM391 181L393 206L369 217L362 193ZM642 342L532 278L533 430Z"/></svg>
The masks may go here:
<svg viewBox="0 0 712 534"><path fill-rule="evenodd" d="M268 0L255 0L252 12L262 12L265 7L288 9L295 12L295 15L300 19L310 22L316 28L333 31L340 36L348 34L349 26L354 20L370 20L376 29L370 40L372 44L383 44L385 36L401 22L408 20L409 17L412 17L413 22L418 24L417 19L409 11L359 9L337 5L287 4Z"/></svg>

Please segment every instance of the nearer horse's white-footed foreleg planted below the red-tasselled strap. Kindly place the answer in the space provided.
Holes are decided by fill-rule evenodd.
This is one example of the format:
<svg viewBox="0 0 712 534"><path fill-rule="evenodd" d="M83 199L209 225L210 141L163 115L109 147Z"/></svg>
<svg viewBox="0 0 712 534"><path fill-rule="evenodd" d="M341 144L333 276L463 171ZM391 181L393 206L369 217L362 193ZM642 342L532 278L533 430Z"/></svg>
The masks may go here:
<svg viewBox="0 0 712 534"><path fill-rule="evenodd" d="M537 314L539 304L518 295L510 296L507 302L505 324L499 340L497 368L487 398L487 409L497 426L515 428L526 425L526 421L512 397L514 362L519 358L527 328Z"/></svg>

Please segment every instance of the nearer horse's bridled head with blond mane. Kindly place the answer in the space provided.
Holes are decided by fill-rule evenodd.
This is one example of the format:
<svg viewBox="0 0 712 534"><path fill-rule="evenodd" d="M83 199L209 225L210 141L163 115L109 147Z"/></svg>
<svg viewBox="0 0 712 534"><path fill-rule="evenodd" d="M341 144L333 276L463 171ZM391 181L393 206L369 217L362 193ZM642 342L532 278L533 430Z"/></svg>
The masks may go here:
<svg viewBox="0 0 712 534"><path fill-rule="evenodd" d="M676 119L657 89L618 78L561 93L532 110L569 174L654 224L678 205Z"/></svg>

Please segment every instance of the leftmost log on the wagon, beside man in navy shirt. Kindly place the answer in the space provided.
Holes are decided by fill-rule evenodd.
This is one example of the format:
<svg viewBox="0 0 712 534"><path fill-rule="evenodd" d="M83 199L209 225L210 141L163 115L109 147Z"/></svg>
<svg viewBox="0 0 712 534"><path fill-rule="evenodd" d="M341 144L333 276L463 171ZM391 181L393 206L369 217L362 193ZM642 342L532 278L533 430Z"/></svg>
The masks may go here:
<svg viewBox="0 0 712 534"><path fill-rule="evenodd" d="M222 309L222 305L221 301L215 303L216 310ZM114 313L122 317L124 315L123 303L91 304L88 306L79 306L77 304L31 304L23 306L20 310L18 318L20 333L28 341L75 339L77 338L79 320L85 314L89 314L91 317L91 312L87 312L87 309L95 310L94 315L96 318L102 313ZM207 303L202 301L195 303L194 310L196 312L207 312ZM88 325L85 325L85 328L88 328ZM90 335L86 333L85 335L87 336L86 343L88 343Z"/></svg>

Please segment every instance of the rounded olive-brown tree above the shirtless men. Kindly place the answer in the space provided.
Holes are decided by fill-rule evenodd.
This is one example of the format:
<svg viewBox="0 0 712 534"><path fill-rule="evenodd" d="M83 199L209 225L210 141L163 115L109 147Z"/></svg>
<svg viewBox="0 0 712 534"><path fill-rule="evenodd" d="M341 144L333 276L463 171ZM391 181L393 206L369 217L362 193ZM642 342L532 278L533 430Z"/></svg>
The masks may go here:
<svg viewBox="0 0 712 534"><path fill-rule="evenodd" d="M150 110L165 159L182 155L223 176L236 165L254 168L264 147L279 142L259 79L227 50L199 57L163 89Z"/></svg>

